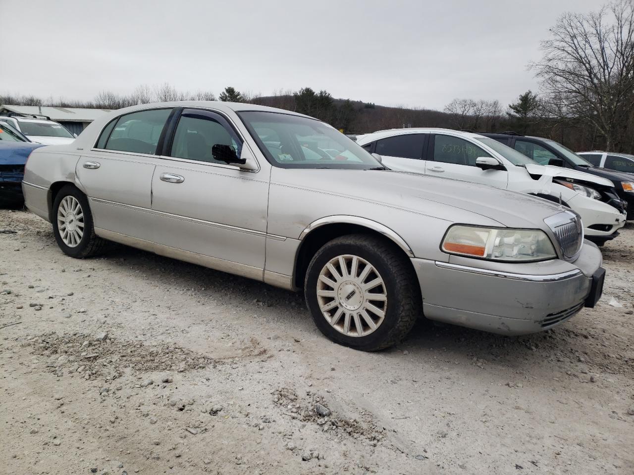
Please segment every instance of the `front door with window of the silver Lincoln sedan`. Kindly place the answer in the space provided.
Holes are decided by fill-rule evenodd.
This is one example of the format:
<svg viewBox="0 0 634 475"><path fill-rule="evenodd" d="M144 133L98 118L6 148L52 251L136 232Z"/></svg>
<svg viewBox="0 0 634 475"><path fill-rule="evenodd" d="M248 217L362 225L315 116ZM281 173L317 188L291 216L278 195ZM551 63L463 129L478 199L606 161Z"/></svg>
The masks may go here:
<svg viewBox="0 0 634 475"><path fill-rule="evenodd" d="M217 160L218 144L238 156L246 146L223 115L182 111L152 179L153 241L210 257L209 267L262 279L269 174Z"/></svg>

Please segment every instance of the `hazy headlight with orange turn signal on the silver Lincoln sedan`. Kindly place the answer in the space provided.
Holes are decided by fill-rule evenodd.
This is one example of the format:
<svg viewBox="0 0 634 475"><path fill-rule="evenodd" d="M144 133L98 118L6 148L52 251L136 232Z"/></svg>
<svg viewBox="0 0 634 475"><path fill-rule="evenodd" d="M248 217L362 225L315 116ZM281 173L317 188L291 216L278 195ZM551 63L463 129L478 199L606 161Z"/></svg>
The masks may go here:
<svg viewBox="0 0 634 475"><path fill-rule="evenodd" d="M540 229L453 225L444 236L442 250L460 256L515 262L557 258L550 239Z"/></svg>

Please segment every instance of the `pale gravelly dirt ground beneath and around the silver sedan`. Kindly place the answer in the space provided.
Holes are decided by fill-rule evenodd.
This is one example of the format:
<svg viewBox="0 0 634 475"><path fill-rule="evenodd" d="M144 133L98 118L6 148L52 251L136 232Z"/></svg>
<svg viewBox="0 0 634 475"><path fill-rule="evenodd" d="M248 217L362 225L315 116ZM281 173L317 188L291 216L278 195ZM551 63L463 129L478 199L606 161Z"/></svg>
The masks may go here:
<svg viewBox="0 0 634 475"><path fill-rule="evenodd" d="M380 353L323 338L301 295L124 246L74 260L26 212L3 229L2 474L634 472L634 225L563 326L420 324Z"/></svg>

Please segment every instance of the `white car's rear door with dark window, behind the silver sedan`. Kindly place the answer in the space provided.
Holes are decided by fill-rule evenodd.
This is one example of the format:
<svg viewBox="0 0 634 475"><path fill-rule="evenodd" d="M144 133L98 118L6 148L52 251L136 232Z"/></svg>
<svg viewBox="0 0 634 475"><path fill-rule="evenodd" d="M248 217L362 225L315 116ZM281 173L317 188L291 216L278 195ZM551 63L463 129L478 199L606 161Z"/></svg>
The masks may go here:
<svg viewBox="0 0 634 475"><path fill-rule="evenodd" d="M403 134L377 140L375 153L392 170L425 173L423 149L429 134Z"/></svg>

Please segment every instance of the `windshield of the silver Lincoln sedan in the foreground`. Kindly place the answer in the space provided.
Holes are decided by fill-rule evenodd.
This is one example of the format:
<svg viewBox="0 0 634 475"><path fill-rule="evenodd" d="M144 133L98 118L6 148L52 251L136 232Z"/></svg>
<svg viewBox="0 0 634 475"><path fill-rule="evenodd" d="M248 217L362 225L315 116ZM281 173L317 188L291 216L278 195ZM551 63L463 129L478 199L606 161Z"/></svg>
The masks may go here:
<svg viewBox="0 0 634 475"><path fill-rule="evenodd" d="M262 153L281 168L384 168L344 134L319 120L276 112L238 112Z"/></svg>

